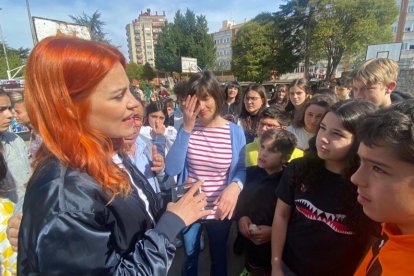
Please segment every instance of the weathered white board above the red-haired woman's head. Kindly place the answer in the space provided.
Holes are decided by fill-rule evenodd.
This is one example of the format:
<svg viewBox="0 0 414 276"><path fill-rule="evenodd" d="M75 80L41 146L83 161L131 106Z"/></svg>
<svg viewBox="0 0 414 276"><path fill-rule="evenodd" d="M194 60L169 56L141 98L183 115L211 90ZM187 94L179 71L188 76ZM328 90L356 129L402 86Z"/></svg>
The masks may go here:
<svg viewBox="0 0 414 276"><path fill-rule="evenodd" d="M33 17L33 26L37 42L49 36L67 35L83 39L91 39L86 26L40 17Z"/></svg>

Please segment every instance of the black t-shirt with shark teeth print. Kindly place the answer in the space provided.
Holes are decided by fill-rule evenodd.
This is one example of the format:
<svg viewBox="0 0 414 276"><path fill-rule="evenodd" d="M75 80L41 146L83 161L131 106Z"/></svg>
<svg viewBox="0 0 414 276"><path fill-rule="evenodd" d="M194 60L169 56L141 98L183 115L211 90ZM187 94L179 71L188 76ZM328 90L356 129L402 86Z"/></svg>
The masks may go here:
<svg viewBox="0 0 414 276"><path fill-rule="evenodd" d="M296 188L292 181L303 170L303 160L292 161L279 184L279 199L292 207L283 260L298 275L352 275L370 232L358 233L347 223L343 195L355 187L322 169L317 190Z"/></svg>

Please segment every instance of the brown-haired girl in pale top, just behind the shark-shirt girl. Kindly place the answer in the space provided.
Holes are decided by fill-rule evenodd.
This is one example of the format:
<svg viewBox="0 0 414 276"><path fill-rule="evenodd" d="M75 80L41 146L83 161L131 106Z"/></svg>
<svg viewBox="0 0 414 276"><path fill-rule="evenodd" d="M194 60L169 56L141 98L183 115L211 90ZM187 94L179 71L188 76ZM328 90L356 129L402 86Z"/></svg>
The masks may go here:
<svg viewBox="0 0 414 276"><path fill-rule="evenodd" d="M316 135L322 117L333 104L334 99L327 95L316 95L303 103L300 114L288 126L288 131L298 140L299 149L309 148L309 139Z"/></svg>

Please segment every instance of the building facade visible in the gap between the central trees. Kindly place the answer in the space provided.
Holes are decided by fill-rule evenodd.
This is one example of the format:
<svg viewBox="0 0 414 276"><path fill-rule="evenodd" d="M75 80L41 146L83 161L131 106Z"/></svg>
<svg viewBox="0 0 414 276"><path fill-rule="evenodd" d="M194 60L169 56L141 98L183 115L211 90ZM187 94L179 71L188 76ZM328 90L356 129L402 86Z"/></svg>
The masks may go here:
<svg viewBox="0 0 414 276"><path fill-rule="evenodd" d="M220 30L211 34L216 49L216 70L231 69L231 42L242 25L243 23L235 24L234 21L224 20Z"/></svg>

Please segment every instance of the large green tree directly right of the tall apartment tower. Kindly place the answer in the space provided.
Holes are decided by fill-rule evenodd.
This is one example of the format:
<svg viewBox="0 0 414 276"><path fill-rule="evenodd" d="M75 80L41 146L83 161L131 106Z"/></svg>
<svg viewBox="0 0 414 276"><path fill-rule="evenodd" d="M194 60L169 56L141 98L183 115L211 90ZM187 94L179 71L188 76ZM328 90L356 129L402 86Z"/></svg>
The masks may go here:
<svg viewBox="0 0 414 276"><path fill-rule="evenodd" d="M205 16L188 9L185 14L176 12L174 22L163 27L155 46L155 65L160 70L180 72L181 57L197 58L201 68L211 67L215 60Z"/></svg>

